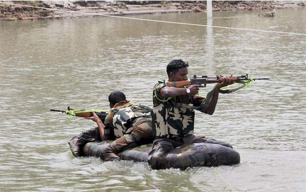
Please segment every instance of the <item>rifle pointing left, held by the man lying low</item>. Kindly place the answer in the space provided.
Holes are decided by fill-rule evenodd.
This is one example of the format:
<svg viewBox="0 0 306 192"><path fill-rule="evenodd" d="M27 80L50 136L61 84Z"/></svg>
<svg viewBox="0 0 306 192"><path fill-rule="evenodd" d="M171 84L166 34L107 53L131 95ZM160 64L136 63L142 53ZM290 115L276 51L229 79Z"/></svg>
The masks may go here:
<svg viewBox="0 0 306 192"><path fill-rule="evenodd" d="M103 109L102 110L99 110L99 109L75 110L75 109L70 108L69 106L67 107L66 111L57 110L57 109L50 109L50 111L62 112L62 113L66 113L67 115L73 115L77 117L92 117L93 116L92 112L95 112L95 114L102 120L103 123L104 123L106 116L108 115L107 113L108 110L103 110Z"/></svg>

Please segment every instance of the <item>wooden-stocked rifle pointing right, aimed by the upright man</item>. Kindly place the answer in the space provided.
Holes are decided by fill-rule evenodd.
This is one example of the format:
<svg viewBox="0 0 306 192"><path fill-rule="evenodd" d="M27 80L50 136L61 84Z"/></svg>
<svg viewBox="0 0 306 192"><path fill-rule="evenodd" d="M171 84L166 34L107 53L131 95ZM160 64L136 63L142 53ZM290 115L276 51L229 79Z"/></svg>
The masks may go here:
<svg viewBox="0 0 306 192"><path fill-rule="evenodd" d="M184 86L188 86L188 85L204 85L204 87L206 87L206 84L211 84L211 83L222 83L224 78L229 77L230 78L230 82L233 83L240 83L243 84L240 87L237 87L235 89L232 90L220 90L221 93L225 94L225 93L232 93L234 91L237 91L239 89L241 89L242 87L246 87L248 86L251 82L255 81L255 80L269 80L269 77L262 77L262 78L248 78L248 73L246 75L241 75L241 76L201 76L201 77L197 77L196 75L193 76L193 78L189 80L185 80L185 81L173 81L173 82L166 82L166 85L168 87L184 87Z"/></svg>

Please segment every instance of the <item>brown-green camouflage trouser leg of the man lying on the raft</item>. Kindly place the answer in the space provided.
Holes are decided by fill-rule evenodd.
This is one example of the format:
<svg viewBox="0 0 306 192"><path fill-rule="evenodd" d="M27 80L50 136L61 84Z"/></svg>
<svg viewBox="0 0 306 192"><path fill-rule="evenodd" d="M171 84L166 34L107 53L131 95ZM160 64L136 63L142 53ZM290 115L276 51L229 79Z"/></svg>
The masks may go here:
<svg viewBox="0 0 306 192"><path fill-rule="evenodd" d="M104 161L119 161L118 154L126 149L152 143L152 122L144 121L136 126L131 133L124 134L122 137L114 140L100 154L100 158Z"/></svg>

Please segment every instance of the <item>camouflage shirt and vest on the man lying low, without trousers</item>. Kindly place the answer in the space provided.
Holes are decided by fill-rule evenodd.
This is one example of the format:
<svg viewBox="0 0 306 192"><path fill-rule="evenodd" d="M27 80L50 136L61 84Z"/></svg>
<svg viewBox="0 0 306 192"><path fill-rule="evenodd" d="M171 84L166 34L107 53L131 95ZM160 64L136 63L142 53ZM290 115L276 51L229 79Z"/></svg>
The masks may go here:
<svg viewBox="0 0 306 192"><path fill-rule="evenodd" d="M114 140L128 134L144 121L151 121L151 108L131 101L121 101L114 108L110 109L105 118L104 137L107 140Z"/></svg>

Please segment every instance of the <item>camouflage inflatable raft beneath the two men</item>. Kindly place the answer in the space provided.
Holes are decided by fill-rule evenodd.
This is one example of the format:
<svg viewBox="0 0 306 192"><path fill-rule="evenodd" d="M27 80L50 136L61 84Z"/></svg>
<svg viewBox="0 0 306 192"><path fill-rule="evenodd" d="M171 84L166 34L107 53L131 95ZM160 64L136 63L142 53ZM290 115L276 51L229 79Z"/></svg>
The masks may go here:
<svg viewBox="0 0 306 192"><path fill-rule="evenodd" d="M207 139L208 140L208 139ZM216 142L216 140L214 140ZM217 141L219 142L219 141ZM89 142L83 148L84 156L99 157L111 141ZM220 142L219 142L220 143ZM146 162L152 144L129 148L118 154L121 160ZM172 149L164 157L165 167L186 169L196 166L234 165L240 162L240 155L232 148L215 143L192 143Z"/></svg>

